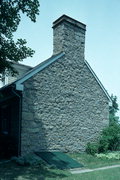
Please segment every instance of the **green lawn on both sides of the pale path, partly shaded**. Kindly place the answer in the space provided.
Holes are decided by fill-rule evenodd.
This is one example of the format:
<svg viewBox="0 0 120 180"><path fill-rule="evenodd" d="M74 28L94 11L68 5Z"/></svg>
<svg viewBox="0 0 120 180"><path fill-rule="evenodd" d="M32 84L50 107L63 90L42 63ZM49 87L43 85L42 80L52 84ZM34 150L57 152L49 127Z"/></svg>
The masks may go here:
<svg viewBox="0 0 120 180"><path fill-rule="evenodd" d="M120 164L120 160L107 160L91 155L69 154L72 158L83 163L84 168L97 168L113 164ZM47 164L41 163L34 166L20 166L14 162L0 164L0 180L119 180L120 168L113 168L101 171L94 171L83 174L72 175L67 170L50 168Z"/></svg>

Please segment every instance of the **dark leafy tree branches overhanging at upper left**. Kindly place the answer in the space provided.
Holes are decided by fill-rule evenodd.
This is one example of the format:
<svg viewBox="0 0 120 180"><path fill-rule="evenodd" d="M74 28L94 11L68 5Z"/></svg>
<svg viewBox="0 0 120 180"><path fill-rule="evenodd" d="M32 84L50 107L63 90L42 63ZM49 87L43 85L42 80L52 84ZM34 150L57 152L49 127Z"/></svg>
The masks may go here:
<svg viewBox="0 0 120 180"><path fill-rule="evenodd" d="M13 33L21 21L21 14L25 14L31 21L36 22L39 15L39 0L1 0L0 1L0 73L15 75L14 62L32 57L34 51L26 47L25 39L13 39Z"/></svg>

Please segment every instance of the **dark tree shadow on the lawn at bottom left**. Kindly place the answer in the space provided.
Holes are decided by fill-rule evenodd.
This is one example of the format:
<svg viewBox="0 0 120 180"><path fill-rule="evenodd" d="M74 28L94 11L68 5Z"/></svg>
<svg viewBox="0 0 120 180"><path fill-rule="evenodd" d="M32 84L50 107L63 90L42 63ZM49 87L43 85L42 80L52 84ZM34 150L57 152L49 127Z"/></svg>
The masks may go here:
<svg viewBox="0 0 120 180"><path fill-rule="evenodd" d="M19 166L16 163L9 162L0 164L1 180L44 180L46 178L65 178L67 175L60 170L49 169L47 166Z"/></svg>

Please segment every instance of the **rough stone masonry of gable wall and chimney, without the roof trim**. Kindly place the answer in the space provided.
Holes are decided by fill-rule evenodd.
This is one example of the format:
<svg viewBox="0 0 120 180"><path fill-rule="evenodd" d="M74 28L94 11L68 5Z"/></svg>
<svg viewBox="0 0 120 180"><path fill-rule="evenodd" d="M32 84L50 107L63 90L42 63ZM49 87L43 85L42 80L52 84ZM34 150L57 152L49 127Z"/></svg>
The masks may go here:
<svg viewBox="0 0 120 180"><path fill-rule="evenodd" d="M21 153L84 151L108 126L109 100L84 61L86 26L53 24L54 54L65 55L24 82Z"/></svg>

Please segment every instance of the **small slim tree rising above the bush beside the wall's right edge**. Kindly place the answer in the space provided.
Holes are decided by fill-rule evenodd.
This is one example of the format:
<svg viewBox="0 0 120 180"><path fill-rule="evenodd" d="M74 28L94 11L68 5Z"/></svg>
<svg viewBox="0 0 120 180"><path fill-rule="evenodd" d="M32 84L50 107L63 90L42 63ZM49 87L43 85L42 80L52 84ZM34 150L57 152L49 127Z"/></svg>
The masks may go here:
<svg viewBox="0 0 120 180"><path fill-rule="evenodd" d="M110 119L110 124L113 124L113 123L118 123L119 117L116 116L116 113L119 110L119 108L117 103L117 97L112 94L111 100L112 100L112 106L109 106L109 119Z"/></svg>

